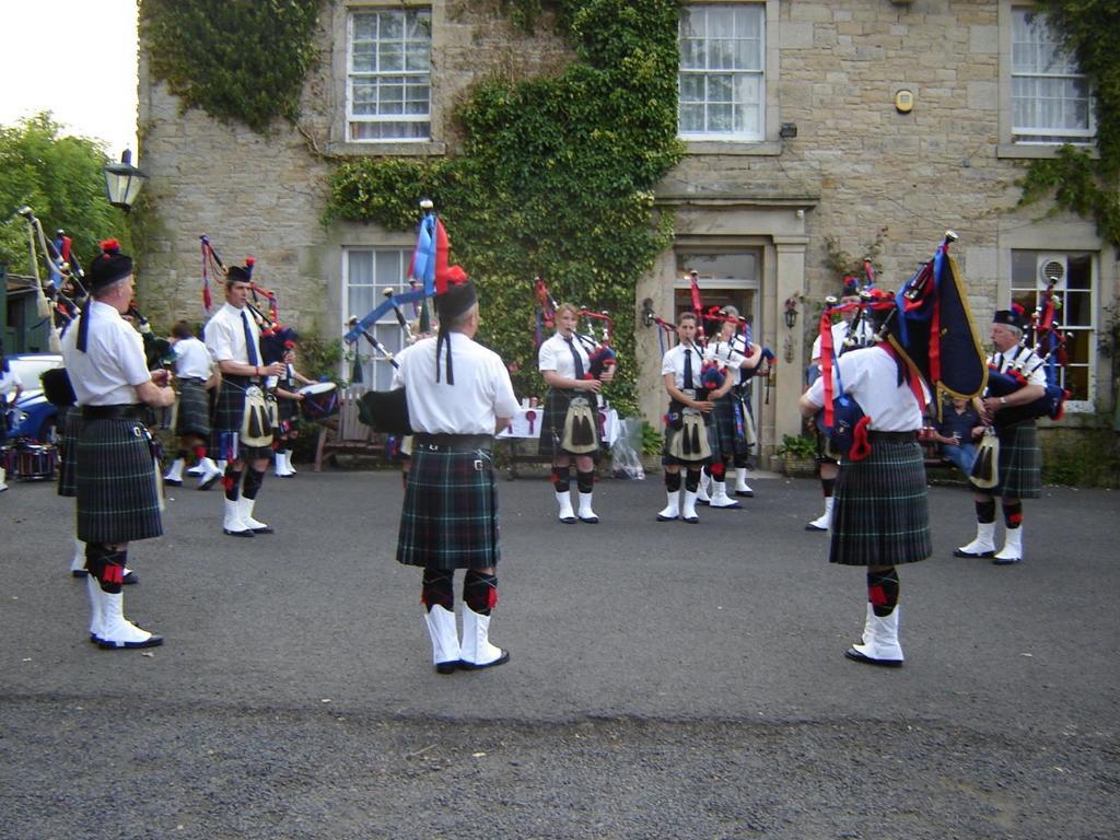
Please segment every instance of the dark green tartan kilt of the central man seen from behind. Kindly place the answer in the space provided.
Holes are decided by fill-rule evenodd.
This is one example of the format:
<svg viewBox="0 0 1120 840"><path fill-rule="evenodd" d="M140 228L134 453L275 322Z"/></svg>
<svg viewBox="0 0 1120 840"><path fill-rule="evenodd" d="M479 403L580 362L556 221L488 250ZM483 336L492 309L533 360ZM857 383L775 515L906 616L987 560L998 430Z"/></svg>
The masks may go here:
<svg viewBox="0 0 1120 840"><path fill-rule="evenodd" d="M482 469L475 468L476 463ZM404 488L398 562L431 569L485 569L497 563L501 554L491 452L417 446Z"/></svg>

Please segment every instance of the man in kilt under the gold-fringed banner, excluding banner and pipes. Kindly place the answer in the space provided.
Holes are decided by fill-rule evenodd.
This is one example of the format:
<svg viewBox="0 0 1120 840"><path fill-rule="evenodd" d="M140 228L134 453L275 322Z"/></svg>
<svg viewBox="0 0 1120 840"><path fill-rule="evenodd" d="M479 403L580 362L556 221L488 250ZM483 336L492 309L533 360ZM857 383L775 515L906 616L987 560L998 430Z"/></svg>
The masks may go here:
<svg viewBox="0 0 1120 840"><path fill-rule="evenodd" d="M886 337L896 304L894 296L872 289L865 317ZM917 430L922 428L928 390L885 340L851 349L836 360L830 374L833 393L842 393L862 409L860 429L867 431L870 452L852 447L841 454L831 516L829 560L867 568L864 633L844 652L856 662L898 668L898 569L932 553L925 466ZM819 379L802 394L799 408L815 417L827 402Z"/></svg>

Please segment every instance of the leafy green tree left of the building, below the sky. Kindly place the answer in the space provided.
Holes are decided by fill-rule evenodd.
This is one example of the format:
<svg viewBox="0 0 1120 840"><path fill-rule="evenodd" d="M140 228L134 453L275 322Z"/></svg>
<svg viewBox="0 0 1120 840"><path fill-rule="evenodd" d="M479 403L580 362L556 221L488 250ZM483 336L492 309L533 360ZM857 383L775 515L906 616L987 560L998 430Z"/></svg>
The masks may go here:
<svg viewBox="0 0 1120 840"><path fill-rule="evenodd" d="M31 270L21 207L31 208L48 240L64 230L83 264L111 236L130 250L124 215L105 197L101 168L106 160L100 142L63 136L49 113L0 127L0 263L9 272ZM40 262L39 276L47 277L46 271Z"/></svg>

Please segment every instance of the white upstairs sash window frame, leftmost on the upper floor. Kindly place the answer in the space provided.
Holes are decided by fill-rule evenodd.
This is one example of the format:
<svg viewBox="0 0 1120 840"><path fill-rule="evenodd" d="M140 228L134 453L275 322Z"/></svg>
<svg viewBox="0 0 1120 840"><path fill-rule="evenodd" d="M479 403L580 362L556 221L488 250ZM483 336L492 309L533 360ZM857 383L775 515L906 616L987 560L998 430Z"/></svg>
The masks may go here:
<svg viewBox="0 0 1120 840"><path fill-rule="evenodd" d="M400 54L402 62L408 55L409 45L414 45L419 39L409 38L409 18L414 17L417 25L423 29L427 29L428 37L428 63L427 67L421 69L405 69L403 66L399 69L362 69L356 71L354 68L355 60L355 19L363 16L381 18L383 16L392 16L401 18L401 29L402 37L400 39L382 39L374 38L372 44L374 47L375 60L380 56L380 50L376 48L377 45L388 45L393 41L399 41ZM355 96L354 90L355 84L360 84L363 80L373 80L380 82L389 80L400 80L402 91L402 111L401 113L374 113L374 114L358 114L355 113ZM424 81L428 88L428 101L426 104L426 110L423 113L409 114L404 112L404 105L408 103L408 91L410 86L414 86L417 82ZM431 109L431 9L398 9L398 8L381 8L381 7L354 7L347 10L346 15L346 141L353 143L401 143L401 142L423 142L431 139L431 120L432 120L432 109ZM395 132L392 136L376 137L376 138L363 138L355 137L355 128L358 125L381 125L392 128L394 125L404 127L408 124L421 124L424 127L424 131L421 134L411 134L403 131Z"/></svg>

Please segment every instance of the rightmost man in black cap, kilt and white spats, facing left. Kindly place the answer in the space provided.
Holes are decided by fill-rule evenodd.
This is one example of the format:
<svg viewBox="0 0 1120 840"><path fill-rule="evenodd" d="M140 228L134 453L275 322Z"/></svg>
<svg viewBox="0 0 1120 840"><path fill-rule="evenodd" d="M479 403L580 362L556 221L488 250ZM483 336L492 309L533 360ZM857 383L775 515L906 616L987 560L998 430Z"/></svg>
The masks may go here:
<svg viewBox="0 0 1120 840"><path fill-rule="evenodd" d="M977 535L954 557L992 558L997 566L1023 560L1023 500L1042 495L1042 452L1035 418L1028 407L1046 394L1046 361L1023 344L1024 312L1012 305L992 317L988 358L989 380L984 398L973 400L980 420L988 427L972 465L976 491ZM996 496L1004 508L1004 547L996 551Z"/></svg>

